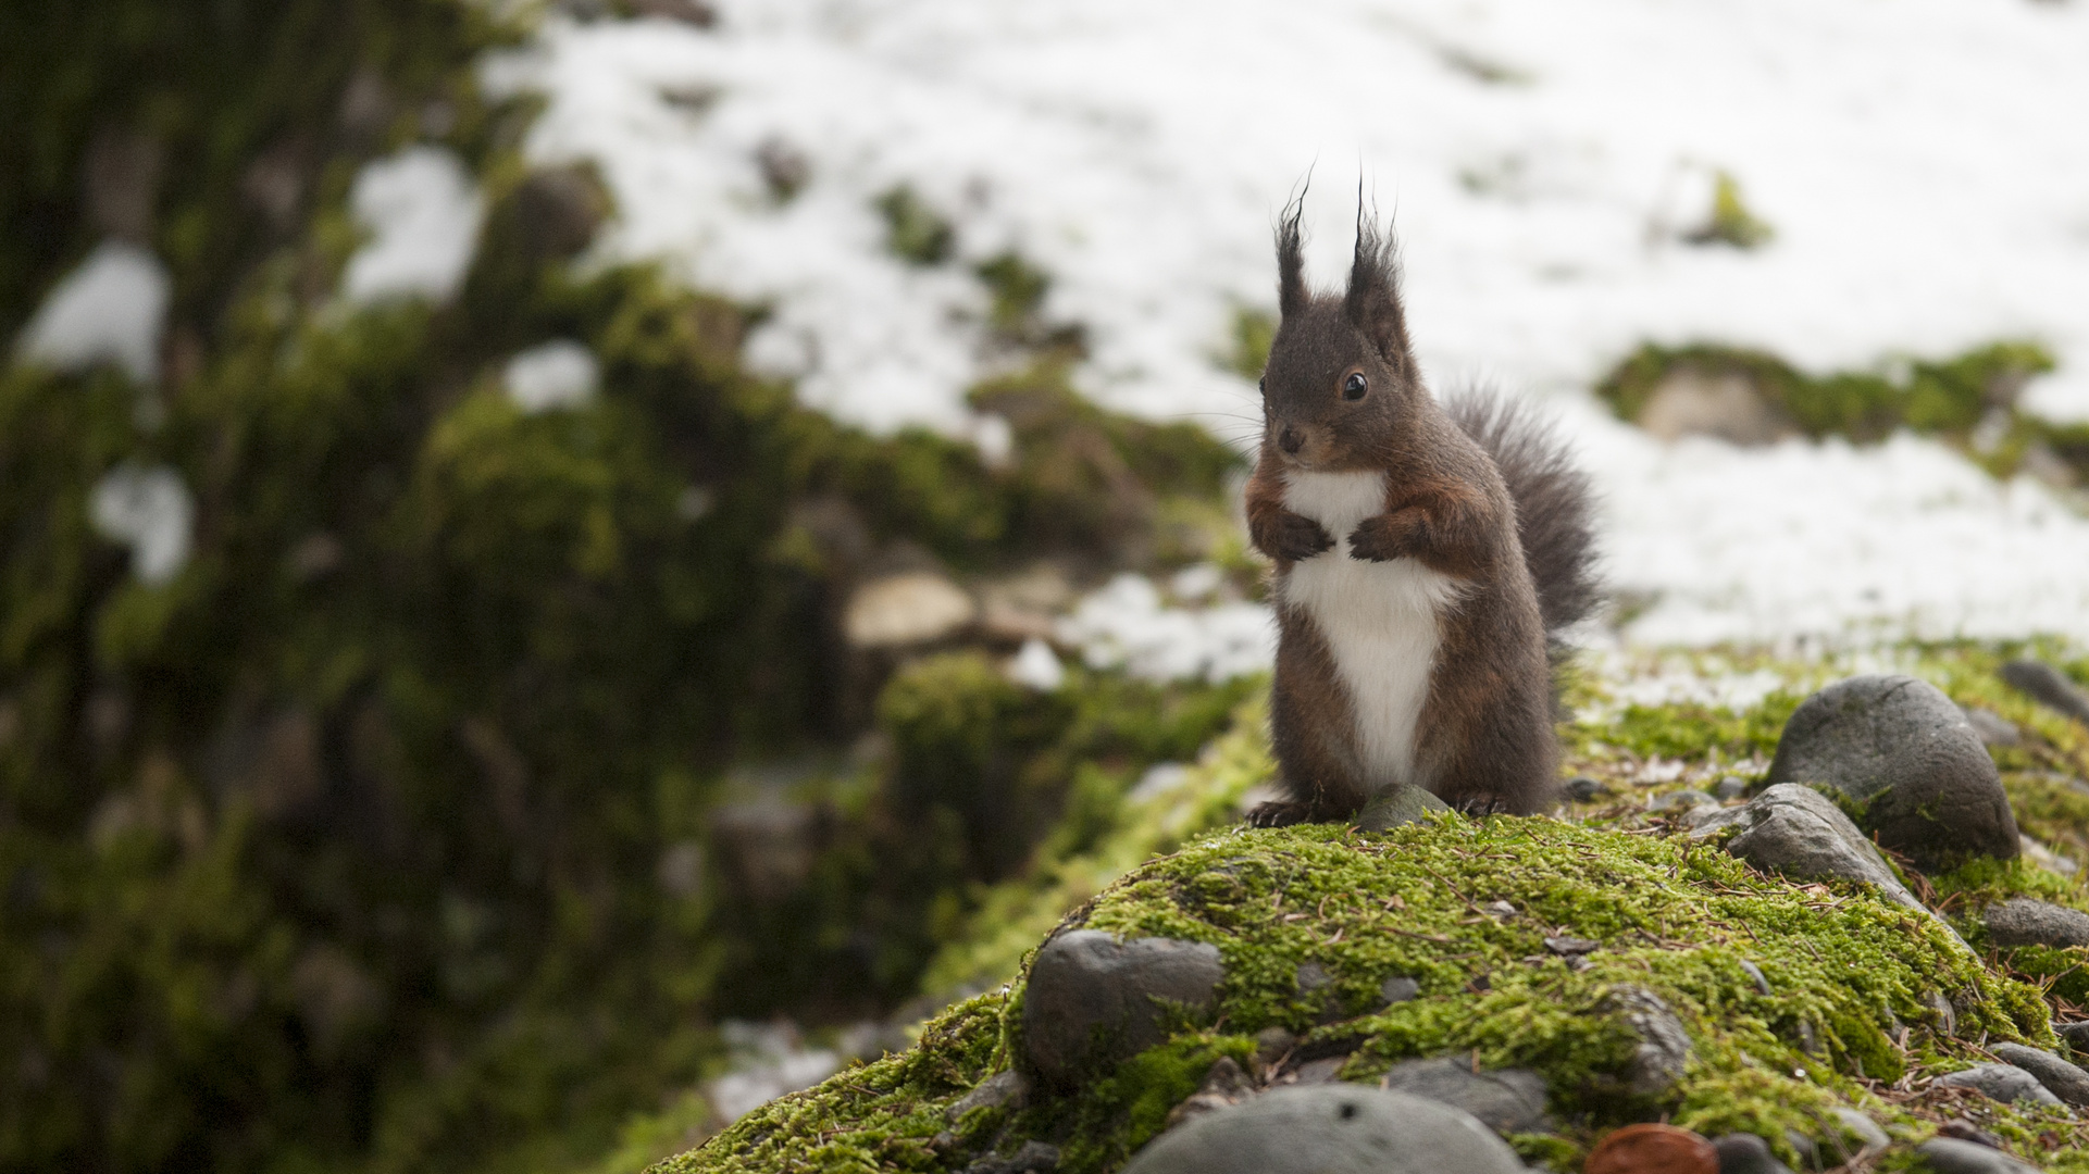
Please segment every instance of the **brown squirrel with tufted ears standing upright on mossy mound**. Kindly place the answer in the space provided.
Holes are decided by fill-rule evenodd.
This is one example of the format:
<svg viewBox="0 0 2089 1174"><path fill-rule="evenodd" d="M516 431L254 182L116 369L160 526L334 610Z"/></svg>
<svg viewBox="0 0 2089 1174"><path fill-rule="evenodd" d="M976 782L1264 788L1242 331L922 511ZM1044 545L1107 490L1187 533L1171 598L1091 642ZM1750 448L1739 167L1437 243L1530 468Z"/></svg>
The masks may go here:
<svg viewBox="0 0 2089 1174"><path fill-rule="evenodd" d="M1341 297L1306 288L1278 217L1283 311L1262 376L1247 529L1274 566L1258 827L1347 821L1404 785L1529 815L1558 790L1560 631L1598 602L1588 476L1544 422L1423 386L1398 246L1362 205Z"/></svg>

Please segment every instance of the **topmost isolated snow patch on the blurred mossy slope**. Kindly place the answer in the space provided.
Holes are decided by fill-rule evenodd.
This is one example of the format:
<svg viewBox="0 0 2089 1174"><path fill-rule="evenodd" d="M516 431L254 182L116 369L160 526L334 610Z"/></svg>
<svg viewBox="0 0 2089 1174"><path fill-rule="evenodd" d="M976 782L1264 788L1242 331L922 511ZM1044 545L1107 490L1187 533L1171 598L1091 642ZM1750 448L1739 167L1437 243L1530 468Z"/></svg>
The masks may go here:
<svg viewBox="0 0 2089 1174"><path fill-rule="evenodd" d="M349 257L343 297L447 301L472 265L485 201L457 152L407 146L355 175L349 211L370 230L370 242Z"/></svg>

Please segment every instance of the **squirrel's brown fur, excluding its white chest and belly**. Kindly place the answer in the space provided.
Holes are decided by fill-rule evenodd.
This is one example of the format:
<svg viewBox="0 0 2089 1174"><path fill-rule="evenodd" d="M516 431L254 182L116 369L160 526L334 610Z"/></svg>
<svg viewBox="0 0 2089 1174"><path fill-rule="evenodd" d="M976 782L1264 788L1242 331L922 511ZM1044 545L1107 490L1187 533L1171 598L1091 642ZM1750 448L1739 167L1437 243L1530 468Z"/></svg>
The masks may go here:
<svg viewBox="0 0 2089 1174"><path fill-rule="evenodd" d="M1464 583L1437 616L1408 781L1462 811L1538 811L1552 802L1558 758L1548 629L1594 602L1586 480L1512 412L1481 403L1454 418L1429 395L1408 345L1393 246L1362 215L1339 299L1306 288L1297 207L1278 226L1276 253L1283 324L1262 382L1264 439L1247 522L1255 547L1276 562L1270 727L1285 798L1251 819L1349 819L1372 798L1327 637L1304 608L1283 602L1297 562L1341 558L1329 554L1335 543L1318 522L1285 508L1291 470L1383 470L1385 508L1349 535L1349 558L1414 558ZM1364 378L1356 399L1343 393L1352 376ZM1502 453L1512 457L1512 478L1496 464ZM1510 480L1535 487L1535 497L1519 501ZM1519 533L1519 508L1542 514L1535 533ZM1533 566L1548 572L1544 589Z"/></svg>

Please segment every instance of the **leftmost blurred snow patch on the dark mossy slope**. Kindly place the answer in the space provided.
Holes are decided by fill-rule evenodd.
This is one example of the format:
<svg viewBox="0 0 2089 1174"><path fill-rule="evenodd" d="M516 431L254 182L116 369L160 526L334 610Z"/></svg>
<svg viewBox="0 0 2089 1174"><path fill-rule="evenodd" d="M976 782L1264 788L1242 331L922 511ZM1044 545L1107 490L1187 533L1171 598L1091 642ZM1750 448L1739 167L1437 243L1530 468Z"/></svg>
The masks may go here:
<svg viewBox="0 0 2089 1174"><path fill-rule="evenodd" d="M21 332L19 355L63 372L115 363L152 384L169 297L171 282L159 257L104 240L44 297Z"/></svg>

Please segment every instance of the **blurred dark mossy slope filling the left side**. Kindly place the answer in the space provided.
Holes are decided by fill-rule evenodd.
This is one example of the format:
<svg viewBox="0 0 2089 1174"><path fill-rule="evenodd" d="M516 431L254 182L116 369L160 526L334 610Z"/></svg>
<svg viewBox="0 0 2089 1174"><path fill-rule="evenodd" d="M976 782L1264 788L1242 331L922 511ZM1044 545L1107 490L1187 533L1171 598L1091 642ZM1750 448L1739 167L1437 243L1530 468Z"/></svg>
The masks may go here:
<svg viewBox="0 0 2089 1174"><path fill-rule="evenodd" d="M714 1015L909 994L1078 769L1187 756L1230 706L978 654L852 700L890 668L840 648L867 558L1180 562L1237 457L1095 409L1063 355L980 391L996 466L800 409L742 372L746 307L545 244L529 111L472 86L501 36L453 0L0 13L0 328L96 242L109 127L159 159L175 284L163 386L0 374L0 1170L568 1168L706 1070ZM349 182L412 140L478 173L472 272L341 305ZM501 370L547 341L600 393L524 412ZM194 497L171 581L90 522L123 464ZM873 714L890 756L792 796L790 892L689 854L733 762Z"/></svg>

